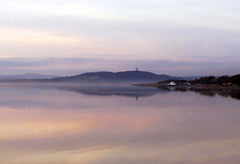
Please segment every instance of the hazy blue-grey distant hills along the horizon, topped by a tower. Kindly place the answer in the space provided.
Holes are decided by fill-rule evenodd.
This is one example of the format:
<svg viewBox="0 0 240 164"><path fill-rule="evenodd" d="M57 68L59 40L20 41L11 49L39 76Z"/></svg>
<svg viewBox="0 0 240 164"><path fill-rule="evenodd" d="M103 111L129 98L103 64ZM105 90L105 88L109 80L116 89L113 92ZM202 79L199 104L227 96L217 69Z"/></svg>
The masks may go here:
<svg viewBox="0 0 240 164"><path fill-rule="evenodd" d="M196 77L176 77L165 74L155 74L145 71L125 71L125 72L89 72L75 76L54 77L42 74L23 74L14 76L0 76L1 80L39 80L50 82L158 82L169 79L192 80Z"/></svg>

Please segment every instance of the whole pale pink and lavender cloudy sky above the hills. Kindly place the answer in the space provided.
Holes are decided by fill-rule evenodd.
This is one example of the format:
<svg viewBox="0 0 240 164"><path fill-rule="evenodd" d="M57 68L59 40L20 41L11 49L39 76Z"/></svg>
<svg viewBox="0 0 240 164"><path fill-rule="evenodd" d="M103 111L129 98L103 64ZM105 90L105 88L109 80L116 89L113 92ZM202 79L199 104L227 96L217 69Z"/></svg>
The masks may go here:
<svg viewBox="0 0 240 164"><path fill-rule="evenodd" d="M237 74L239 0L0 0L0 75Z"/></svg>

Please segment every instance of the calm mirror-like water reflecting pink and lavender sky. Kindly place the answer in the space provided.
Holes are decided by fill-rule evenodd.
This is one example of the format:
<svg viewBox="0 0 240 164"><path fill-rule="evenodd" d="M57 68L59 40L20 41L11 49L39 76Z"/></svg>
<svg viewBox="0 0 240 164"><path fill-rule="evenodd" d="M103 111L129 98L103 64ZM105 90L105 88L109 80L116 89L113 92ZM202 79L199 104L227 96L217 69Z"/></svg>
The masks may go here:
<svg viewBox="0 0 240 164"><path fill-rule="evenodd" d="M154 88L0 85L2 164L239 164L240 100Z"/></svg>

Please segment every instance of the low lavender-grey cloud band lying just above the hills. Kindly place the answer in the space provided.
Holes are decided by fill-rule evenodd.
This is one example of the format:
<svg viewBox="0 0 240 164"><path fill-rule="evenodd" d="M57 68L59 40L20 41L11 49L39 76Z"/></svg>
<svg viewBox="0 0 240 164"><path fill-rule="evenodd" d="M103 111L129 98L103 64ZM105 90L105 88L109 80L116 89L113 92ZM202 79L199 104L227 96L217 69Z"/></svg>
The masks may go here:
<svg viewBox="0 0 240 164"><path fill-rule="evenodd" d="M238 61L109 60L91 58L0 59L0 74L42 73L74 75L91 71L126 71L139 68L175 76L238 74Z"/></svg>

